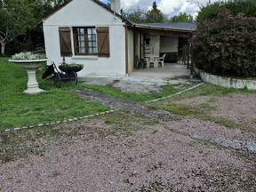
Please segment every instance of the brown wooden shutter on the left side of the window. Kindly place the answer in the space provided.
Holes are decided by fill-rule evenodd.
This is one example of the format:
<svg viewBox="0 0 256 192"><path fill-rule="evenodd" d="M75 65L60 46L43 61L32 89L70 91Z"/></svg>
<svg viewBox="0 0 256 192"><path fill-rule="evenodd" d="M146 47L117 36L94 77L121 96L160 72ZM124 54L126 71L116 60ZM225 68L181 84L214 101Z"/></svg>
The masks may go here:
<svg viewBox="0 0 256 192"><path fill-rule="evenodd" d="M72 56L71 29L59 28L60 34L60 55L62 57Z"/></svg>

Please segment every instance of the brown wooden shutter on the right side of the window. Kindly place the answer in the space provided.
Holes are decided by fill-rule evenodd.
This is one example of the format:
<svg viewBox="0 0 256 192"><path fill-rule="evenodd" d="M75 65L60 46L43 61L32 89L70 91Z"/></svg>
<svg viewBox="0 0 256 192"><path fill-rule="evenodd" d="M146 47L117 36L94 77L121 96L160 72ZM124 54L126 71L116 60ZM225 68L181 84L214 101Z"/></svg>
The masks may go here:
<svg viewBox="0 0 256 192"><path fill-rule="evenodd" d="M110 57L108 27L97 28L97 41L98 41L98 56Z"/></svg>

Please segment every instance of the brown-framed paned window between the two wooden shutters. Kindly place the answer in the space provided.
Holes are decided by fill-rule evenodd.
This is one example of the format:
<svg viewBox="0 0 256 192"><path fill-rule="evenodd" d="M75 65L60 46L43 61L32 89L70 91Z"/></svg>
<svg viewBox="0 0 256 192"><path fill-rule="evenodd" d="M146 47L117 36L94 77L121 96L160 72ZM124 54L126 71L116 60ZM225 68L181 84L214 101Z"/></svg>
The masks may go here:
<svg viewBox="0 0 256 192"><path fill-rule="evenodd" d="M76 55L97 55L96 28L73 28Z"/></svg>

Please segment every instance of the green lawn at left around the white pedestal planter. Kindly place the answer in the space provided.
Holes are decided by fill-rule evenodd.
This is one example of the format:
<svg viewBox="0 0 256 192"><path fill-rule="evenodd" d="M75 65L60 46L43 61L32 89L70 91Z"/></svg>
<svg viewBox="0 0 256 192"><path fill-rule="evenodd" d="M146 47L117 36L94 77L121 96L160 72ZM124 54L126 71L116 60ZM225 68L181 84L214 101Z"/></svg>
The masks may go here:
<svg viewBox="0 0 256 192"><path fill-rule="evenodd" d="M40 88L47 92L36 95L23 93L28 81L27 72L7 60L0 58L0 130L50 123L108 109L70 92L74 84L65 84L58 89L52 82L42 80L44 68L38 71L37 79Z"/></svg>

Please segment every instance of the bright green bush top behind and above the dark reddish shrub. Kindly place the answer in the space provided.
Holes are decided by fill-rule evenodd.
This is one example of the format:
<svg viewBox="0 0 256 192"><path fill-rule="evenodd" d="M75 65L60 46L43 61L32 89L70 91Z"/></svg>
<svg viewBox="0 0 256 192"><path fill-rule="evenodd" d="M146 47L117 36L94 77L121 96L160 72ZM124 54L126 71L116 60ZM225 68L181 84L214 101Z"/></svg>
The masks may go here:
<svg viewBox="0 0 256 192"><path fill-rule="evenodd" d="M202 7L200 12L198 12L196 22L216 18L221 8L227 8L233 15L243 12L245 16L256 17L256 0L219 1Z"/></svg>

